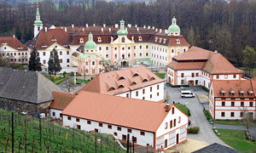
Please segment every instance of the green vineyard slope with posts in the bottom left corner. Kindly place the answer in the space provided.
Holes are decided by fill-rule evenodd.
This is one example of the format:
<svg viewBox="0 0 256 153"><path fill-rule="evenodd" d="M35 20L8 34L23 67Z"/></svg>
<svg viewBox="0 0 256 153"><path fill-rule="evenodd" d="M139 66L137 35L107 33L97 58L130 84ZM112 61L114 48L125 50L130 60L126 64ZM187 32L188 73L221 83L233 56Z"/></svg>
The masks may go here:
<svg viewBox="0 0 256 153"><path fill-rule="evenodd" d="M112 135L65 128L14 112L15 152L125 152ZM12 111L0 109L0 152L12 152Z"/></svg>

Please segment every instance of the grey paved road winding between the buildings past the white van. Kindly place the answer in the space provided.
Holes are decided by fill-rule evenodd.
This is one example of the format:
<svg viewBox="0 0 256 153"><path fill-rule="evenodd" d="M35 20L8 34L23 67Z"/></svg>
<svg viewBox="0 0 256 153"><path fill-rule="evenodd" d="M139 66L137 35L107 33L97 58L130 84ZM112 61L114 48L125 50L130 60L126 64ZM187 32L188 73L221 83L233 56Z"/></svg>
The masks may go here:
<svg viewBox="0 0 256 153"><path fill-rule="evenodd" d="M189 88L194 91L196 94L207 94L204 90L200 88ZM218 143L229 146L225 144L221 139L218 139L215 133L212 131L212 125L207 122L207 118L203 113L203 106L199 103L198 99L196 98L181 98L180 91L178 88L171 88L170 86L166 85L165 92L168 91L171 97L169 103L179 102L183 105L189 107L191 115L189 117L191 121L192 127L200 127L200 133L198 134L188 134L189 139L196 139L200 141L207 142L208 144ZM166 94L166 93L165 93ZM208 108L206 108L208 109Z"/></svg>

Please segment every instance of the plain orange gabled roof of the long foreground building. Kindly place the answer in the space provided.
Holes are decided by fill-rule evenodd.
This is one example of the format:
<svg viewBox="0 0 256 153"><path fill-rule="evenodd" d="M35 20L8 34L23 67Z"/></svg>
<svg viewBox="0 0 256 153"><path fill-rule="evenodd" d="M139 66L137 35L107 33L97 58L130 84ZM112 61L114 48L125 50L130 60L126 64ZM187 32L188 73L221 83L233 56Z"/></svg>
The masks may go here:
<svg viewBox="0 0 256 153"><path fill-rule="evenodd" d="M142 99L81 91L61 114L155 132L168 114L165 106Z"/></svg>

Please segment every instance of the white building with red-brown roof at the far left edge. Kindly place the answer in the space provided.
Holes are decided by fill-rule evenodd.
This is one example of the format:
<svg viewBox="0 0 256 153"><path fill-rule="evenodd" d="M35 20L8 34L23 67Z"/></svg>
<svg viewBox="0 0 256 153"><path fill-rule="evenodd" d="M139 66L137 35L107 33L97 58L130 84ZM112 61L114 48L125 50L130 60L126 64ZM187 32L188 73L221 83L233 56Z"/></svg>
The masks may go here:
<svg viewBox="0 0 256 153"><path fill-rule="evenodd" d="M15 35L13 37L0 37L0 57L9 59L12 63L28 63L29 52Z"/></svg>

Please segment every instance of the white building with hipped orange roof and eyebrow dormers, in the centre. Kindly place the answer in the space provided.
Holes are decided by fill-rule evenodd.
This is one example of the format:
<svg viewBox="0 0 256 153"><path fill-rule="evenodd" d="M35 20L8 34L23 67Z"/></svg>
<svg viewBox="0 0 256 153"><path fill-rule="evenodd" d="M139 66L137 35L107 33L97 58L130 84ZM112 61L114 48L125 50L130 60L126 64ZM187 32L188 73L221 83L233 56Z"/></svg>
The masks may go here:
<svg viewBox="0 0 256 153"><path fill-rule="evenodd" d="M163 102L164 83L147 67L138 66L99 74L81 90Z"/></svg>

